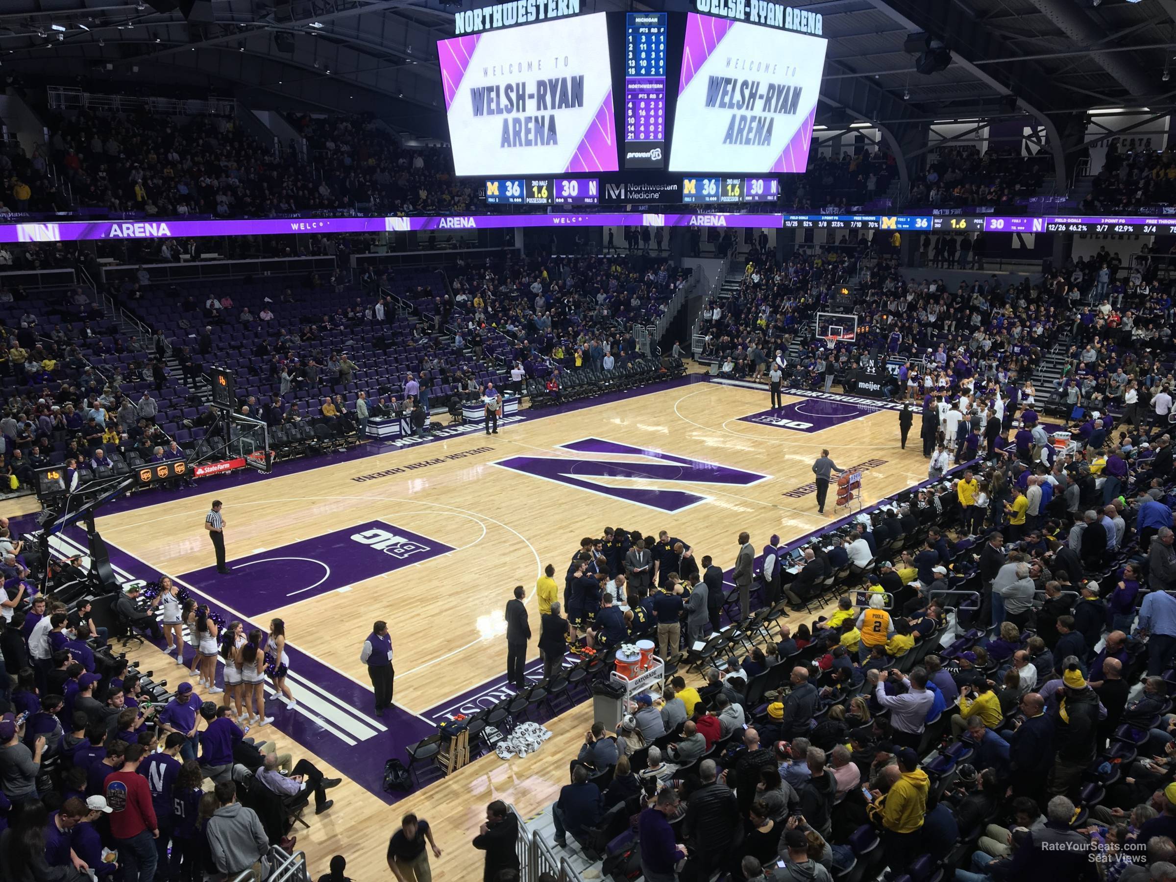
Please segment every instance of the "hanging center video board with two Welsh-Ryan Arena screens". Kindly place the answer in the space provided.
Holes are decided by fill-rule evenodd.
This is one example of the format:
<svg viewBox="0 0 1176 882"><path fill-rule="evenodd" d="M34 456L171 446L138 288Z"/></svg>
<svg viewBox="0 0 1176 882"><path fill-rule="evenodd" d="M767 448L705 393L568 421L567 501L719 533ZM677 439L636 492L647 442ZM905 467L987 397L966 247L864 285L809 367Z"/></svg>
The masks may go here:
<svg viewBox="0 0 1176 882"><path fill-rule="evenodd" d="M693 188L683 201L775 201L773 175L808 163L821 16L762 0L693 9L455 13L437 55L457 175L481 178L489 205L596 205L669 181Z"/></svg>

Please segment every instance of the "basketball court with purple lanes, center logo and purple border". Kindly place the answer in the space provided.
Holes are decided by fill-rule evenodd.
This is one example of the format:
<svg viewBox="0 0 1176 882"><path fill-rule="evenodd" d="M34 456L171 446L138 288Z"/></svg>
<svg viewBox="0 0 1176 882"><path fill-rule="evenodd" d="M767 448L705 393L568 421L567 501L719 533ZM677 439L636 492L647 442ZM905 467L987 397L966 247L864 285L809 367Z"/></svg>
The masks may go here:
<svg viewBox="0 0 1176 882"><path fill-rule="evenodd" d="M900 449L894 405L801 390L786 390L783 401L771 410L766 386L691 375L524 410L497 435L453 427L432 441L362 445L279 462L273 474L247 469L189 489L133 494L107 505L96 526L121 580L171 575L247 628L285 620L298 707L272 702L268 731L347 779L338 791L349 796L347 808L307 831L323 848L342 848L361 833L353 820L386 821L380 807L393 797L381 788L385 760L403 759L405 746L440 720L512 693L503 619L510 592L526 587L537 636L535 580L552 563L561 582L582 536L604 527L664 529L729 569L741 530L760 548L773 534L784 544L851 516L831 496L826 514L816 512L811 463L822 448L840 467L862 470L867 506L927 479L917 439ZM214 497L223 502L228 575L215 572L203 529ZM85 534L71 528L54 542L83 550ZM359 660L376 619L389 623L396 671L395 706L380 716ZM156 675L168 663L151 646L132 656ZM534 647L529 656L528 673L537 676ZM583 713L563 715L576 736ZM562 720L550 728L563 733ZM543 762L555 759L566 769L554 749ZM434 804L435 788L463 780L485 789L507 774L517 784L516 773L505 771L517 762L474 763L461 773L468 780L454 776L406 803ZM514 796L521 809L560 783L557 771L541 777L530 800ZM469 794L461 799L470 803Z"/></svg>

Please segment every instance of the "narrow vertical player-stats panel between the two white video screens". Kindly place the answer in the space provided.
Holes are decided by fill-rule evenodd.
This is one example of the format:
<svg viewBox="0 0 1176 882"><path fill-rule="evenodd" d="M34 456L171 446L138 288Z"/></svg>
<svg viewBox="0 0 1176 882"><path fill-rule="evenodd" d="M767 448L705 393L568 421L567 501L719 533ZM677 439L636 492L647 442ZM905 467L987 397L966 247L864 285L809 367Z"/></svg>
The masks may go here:
<svg viewBox="0 0 1176 882"><path fill-rule="evenodd" d="M666 21L663 12L626 15L626 168L661 168L666 161Z"/></svg>

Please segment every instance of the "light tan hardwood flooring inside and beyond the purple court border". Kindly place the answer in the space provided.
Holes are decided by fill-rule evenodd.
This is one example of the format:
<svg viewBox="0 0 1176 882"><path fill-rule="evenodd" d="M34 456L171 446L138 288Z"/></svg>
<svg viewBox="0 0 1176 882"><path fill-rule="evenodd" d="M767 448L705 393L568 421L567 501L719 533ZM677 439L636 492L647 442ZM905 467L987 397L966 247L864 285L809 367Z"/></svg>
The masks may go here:
<svg viewBox="0 0 1176 882"><path fill-rule="evenodd" d="M741 530L759 548L771 534L787 542L840 516L831 499L818 514L811 488L806 490L822 448L838 466L870 463L862 485L867 505L926 479L917 436L910 449L898 448L895 413L844 400L784 401L787 413L764 415L766 388L668 388L506 425L489 437L456 436L285 474L279 467L269 480L215 494L160 494L155 505L102 516L99 528L109 544L183 576L230 613L241 608L242 617L248 612L262 622L282 617L292 646L365 688L359 648L372 621L386 620L396 702L423 713L502 673L502 610L515 584L527 589L537 639L535 580L552 563L560 581L583 535L600 535L606 526L654 535L664 529L690 543L697 557L709 554L727 568ZM225 587L230 582L203 572L213 562L202 523L214 495L225 506L229 562L252 567L232 590ZM370 522L449 550L370 575L363 569L369 548L350 535ZM323 534L335 532L340 537L328 543ZM287 559L309 563L282 569L276 561ZM316 564L328 569L318 587ZM353 567L362 577L350 577ZM168 670L173 682L180 671L154 647L129 655L158 674ZM308 814L299 848L315 877L332 855L342 854L348 875L370 882L389 873L387 837L402 814L414 811L433 824L443 849L433 860L434 878L477 878L481 855L470 840L486 803L506 800L524 817L541 810L567 783L568 760L592 722L590 703L581 704L548 724L554 736L539 751L506 762L485 757L390 807L345 776L330 793L334 807ZM268 735L295 759L307 756L328 775L336 773L273 726L250 735ZM372 755L369 762L382 769L386 759Z"/></svg>

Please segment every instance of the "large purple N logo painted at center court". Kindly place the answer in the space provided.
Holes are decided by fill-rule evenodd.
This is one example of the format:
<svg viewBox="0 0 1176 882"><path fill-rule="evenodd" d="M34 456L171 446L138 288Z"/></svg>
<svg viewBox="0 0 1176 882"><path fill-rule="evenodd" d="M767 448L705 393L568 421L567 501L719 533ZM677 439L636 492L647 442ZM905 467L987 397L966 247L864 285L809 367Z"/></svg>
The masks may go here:
<svg viewBox="0 0 1176 882"><path fill-rule="evenodd" d="M560 445L561 450L592 454L588 456L512 456L499 460L495 466L515 472L557 481L589 493L635 502L656 508L659 512L681 512L690 506L706 502L709 496L688 490L684 485L728 485L750 487L770 475L744 472L719 466L714 462L690 460L683 456L630 447L616 441L586 437ZM622 460L617 456L639 456L640 460ZM610 482L594 481L595 477L615 479ZM619 486L623 481L629 486ZM636 485L636 486L634 486Z"/></svg>

